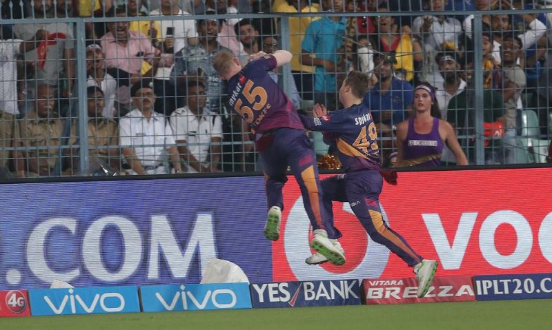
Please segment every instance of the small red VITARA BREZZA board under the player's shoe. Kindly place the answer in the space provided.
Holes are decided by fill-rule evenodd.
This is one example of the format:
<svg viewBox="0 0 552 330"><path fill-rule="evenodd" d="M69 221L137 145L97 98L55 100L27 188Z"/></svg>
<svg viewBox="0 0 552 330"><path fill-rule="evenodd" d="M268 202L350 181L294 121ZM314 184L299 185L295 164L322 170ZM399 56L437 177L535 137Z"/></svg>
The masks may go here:
<svg viewBox="0 0 552 330"><path fill-rule="evenodd" d="M366 305L475 301L471 276L436 277L424 298L417 298L414 278L367 279L363 285Z"/></svg>

